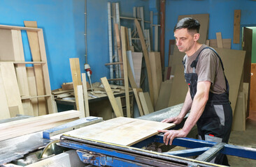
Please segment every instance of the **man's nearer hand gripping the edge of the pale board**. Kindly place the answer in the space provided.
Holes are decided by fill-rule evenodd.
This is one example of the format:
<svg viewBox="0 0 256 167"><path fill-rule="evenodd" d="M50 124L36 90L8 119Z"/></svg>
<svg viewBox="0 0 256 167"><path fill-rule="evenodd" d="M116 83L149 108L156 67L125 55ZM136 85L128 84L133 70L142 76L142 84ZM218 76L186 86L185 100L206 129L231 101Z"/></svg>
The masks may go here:
<svg viewBox="0 0 256 167"><path fill-rule="evenodd" d="M164 133L164 143L165 145L172 145L173 139L176 137L185 137L187 136L187 133L183 131L183 129L180 130L158 130L158 132Z"/></svg>

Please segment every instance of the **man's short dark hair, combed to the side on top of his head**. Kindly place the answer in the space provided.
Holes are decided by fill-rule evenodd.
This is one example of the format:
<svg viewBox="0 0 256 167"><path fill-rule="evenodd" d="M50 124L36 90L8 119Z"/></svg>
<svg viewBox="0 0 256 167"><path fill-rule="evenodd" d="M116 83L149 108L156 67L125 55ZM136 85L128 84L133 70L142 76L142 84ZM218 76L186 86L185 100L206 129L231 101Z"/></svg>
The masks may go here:
<svg viewBox="0 0 256 167"><path fill-rule="evenodd" d="M185 17L183 19L180 19L180 21L178 21L173 31L176 31L176 29L187 29L187 31L194 30L194 31L197 31L197 33L199 33L200 23L197 21L197 19L193 19L191 17Z"/></svg>

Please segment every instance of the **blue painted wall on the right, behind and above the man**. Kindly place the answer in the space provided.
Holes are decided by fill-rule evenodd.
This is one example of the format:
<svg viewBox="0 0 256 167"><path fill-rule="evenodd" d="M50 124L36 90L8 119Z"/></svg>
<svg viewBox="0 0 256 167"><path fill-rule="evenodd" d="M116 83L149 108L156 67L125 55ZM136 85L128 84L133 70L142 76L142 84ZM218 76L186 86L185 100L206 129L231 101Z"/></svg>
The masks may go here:
<svg viewBox="0 0 256 167"><path fill-rule="evenodd" d="M173 27L178 15L210 15L208 39L216 39L215 33L221 32L222 38L232 39L232 49L241 49L241 44L233 44L234 10L241 10L241 26L256 25L256 1L250 0L166 0L165 29L165 66L168 65L168 44L173 38Z"/></svg>

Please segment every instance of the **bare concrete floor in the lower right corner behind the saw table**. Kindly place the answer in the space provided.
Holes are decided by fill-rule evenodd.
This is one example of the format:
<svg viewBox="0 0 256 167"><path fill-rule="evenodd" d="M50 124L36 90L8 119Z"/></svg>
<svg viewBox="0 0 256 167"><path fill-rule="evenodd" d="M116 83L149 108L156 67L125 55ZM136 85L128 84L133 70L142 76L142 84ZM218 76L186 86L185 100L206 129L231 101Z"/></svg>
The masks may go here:
<svg viewBox="0 0 256 167"><path fill-rule="evenodd" d="M256 111L250 111L246 120L246 131L232 131L229 144L256 148ZM227 156L230 166L256 166L256 160Z"/></svg>

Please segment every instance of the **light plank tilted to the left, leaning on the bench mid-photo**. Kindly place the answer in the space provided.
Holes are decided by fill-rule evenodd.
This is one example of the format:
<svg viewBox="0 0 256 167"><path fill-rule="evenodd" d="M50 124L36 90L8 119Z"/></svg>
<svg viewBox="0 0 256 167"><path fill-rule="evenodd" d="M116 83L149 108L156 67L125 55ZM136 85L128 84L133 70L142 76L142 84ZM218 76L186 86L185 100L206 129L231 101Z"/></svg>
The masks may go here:
<svg viewBox="0 0 256 167"><path fill-rule="evenodd" d="M108 84L108 79L106 79L106 77L101 78L101 83L104 85L104 88L106 90L106 94L108 95L108 100L109 100L109 102L111 102L111 106L113 108L115 116L116 117L124 116L124 113L122 113L119 110L118 104L115 101L115 97L114 97L113 92L111 90L111 86L109 86L109 84Z"/></svg>

